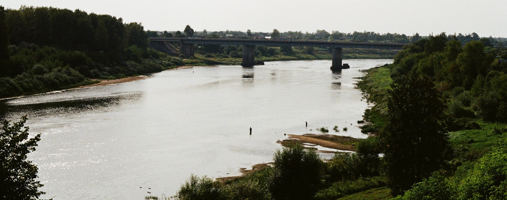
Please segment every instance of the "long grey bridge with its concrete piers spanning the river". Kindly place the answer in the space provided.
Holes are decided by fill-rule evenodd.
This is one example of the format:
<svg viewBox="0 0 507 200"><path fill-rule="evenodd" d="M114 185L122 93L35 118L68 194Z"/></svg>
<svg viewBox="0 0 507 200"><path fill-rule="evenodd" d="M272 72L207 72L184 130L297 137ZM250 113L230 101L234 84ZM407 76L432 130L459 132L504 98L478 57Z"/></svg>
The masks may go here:
<svg viewBox="0 0 507 200"><path fill-rule="evenodd" d="M282 39L223 39L223 38L179 38L179 37L149 37L151 42L176 42L179 43L179 52L186 57L194 56L195 44L209 45L242 45L243 61L241 66L251 67L256 65L255 46L264 45L271 47L280 46L303 46L333 48L333 60L331 70L344 68L342 65L342 48L362 49L399 49L406 44L389 43L363 43L363 42L326 42L326 41L289 41Z"/></svg>

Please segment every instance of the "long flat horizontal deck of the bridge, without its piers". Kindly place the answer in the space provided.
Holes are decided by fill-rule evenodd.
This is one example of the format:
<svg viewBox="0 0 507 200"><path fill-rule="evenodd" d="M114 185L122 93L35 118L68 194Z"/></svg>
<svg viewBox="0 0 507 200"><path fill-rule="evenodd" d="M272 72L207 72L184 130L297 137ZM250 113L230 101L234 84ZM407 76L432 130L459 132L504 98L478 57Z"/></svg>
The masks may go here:
<svg viewBox="0 0 507 200"><path fill-rule="evenodd" d="M223 38L177 38L150 37L150 41L180 42L184 44L212 45L264 45L264 46L304 46L322 48L363 48L363 49L402 49L406 44L363 43L363 42L324 42L324 41L289 41L282 39L223 39Z"/></svg>

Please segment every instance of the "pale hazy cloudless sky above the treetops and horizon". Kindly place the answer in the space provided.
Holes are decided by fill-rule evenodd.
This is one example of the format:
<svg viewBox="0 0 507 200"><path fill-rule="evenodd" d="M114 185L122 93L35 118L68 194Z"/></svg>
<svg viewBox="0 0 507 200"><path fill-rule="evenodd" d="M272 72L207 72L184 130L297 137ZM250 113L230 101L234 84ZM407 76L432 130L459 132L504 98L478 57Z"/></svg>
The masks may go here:
<svg viewBox="0 0 507 200"><path fill-rule="evenodd" d="M0 0L0 5L11 9L22 5L80 9L121 17L125 23L140 22L144 30L183 31L190 25L195 31L271 32L276 28L281 32L476 32L481 37L507 37L507 0Z"/></svg>

